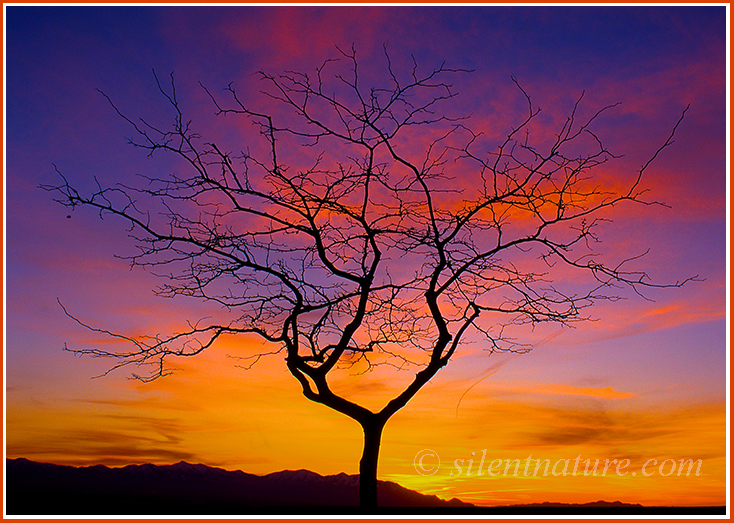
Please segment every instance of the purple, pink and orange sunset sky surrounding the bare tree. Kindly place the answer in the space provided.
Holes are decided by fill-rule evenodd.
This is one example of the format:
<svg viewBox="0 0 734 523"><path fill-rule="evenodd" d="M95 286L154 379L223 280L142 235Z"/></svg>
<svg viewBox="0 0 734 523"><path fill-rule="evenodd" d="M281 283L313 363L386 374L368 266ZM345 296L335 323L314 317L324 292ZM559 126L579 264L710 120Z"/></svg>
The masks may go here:
<svg viewBox="0 0 734 523"><path fill-rule="evenodd" d="M725 504L727 15L723 6L6 7L6 456L357 473L358 424L304 398L282 355L237 366L235 357L267 350L257 340L223 339L152 383L125 370L93 379L112 362L62 347L108 340L57 300L88 324L133 334L173 332L217 310L156 297L161 278L119 257L134 249L123 222L70 212L38 186L58 182L54 165L83 189L95 177L133 183L181 167L129 146L129 125L97 89L135 118L166 122L152 71L174 72L200 132L236 141L235 127L210 127L219 120L200 82L213 92L234 82L254 107L267 107L252 73L314 71L335 46L352 44L379 71L387 43L395 64L412 55L426 67L474 70L457 77L450 107L471 114L488 139L500 140L524 110L513 76L548 132L582 92L586 114L621 102L596 123L605 145L624 155L600 183L629 180L690 105L643 182L669 207L615 211L602 249L623 259L649 248L639 263L655 281L699 281L600 303L596 321L574 329L528 329L527 354L462 346L389 421L378 477L485 505ZM334 390L370 408L412 377L390 368L353 374L336 374ZM424 476L414 458L426 449L440 467ZM573 464L580 455L629 459L639 471L650 459L690 458L702 460L702 473L456 475L456 460L474 457L476 466L484 449L485 467L530 455Z"/></svg>

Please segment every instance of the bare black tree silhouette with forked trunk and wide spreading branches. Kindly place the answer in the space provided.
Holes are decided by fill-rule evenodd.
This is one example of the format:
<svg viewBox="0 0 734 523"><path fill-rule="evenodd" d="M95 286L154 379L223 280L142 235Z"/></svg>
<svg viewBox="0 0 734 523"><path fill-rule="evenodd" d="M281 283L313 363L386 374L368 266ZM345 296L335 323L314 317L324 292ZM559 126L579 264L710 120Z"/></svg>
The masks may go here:
<svg viewBox="0 0 734 523"><path fill-rule="evenodd" d="M592 129L614 105L581 120L582 95L550 138L534 142L540 110L513 78L527 112L491 145L470 119L445 113L456 96L451 79L468 71L441 65L421 72L414 61L401 72L386 52L382 84L366 88L354 50L339 52L312 74L261 71L266 105L277 107L269 113L253 109L232 85L224 100L204 88L218 115L259 126L261 143L244 152L195 132L173 77L170 85L156 77L175 114L172 127L113 107L132 126L135 146L180 157L185 174L83 195L59 172L62 182L43 188L68 207L124 218L139 248L132 263L166 267L163 295L223 307L223 321L189 323L167 337L87 326L127 340L130 349L71 350L115 358L112 369L143 368L134 376L148 381L170 372L169 358L199 354L223 335L261 337L285 353L309 400L361 425L360 498L375 507L386 422L462 340L480 336L490 353L523 352L529 347L508 327L587 319L584 309L616 299L620 286L639 292L685 283L652 283L628 269L637 256L612 263L594 251L606 210L657 204L645 199L641 180L683 115L619 191L595 178L618 157ZM578 280L569 280L569 269ZM329 386L332 370L356 364L416 373L372 411Z"/></svg>

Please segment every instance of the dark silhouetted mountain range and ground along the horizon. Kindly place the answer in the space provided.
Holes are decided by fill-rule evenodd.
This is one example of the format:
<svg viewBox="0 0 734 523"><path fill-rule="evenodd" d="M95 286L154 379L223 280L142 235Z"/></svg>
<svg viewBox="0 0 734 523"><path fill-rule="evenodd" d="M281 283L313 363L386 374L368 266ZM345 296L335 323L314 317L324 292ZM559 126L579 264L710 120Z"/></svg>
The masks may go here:
<svg viewBox="0 0 734 523"><path fill-rule="evenodd" d="M20 515L362 514L359 475L284 470L265 476L184 461L174 465L71 467L7 459L5 513ZM480 507L378 482L376 514L716 515L726 507L643 507L620 501Z"/></svg>

